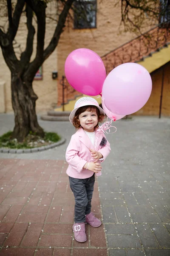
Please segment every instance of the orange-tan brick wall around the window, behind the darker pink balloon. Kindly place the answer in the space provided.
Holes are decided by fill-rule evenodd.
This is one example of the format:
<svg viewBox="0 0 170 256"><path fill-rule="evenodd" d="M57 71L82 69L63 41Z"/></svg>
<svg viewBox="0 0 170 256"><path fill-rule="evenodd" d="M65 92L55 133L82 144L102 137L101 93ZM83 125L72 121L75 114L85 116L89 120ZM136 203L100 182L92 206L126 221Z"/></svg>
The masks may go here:
<svg viewBox="0 0 170 256"><path fill-rule="evenodd" d="M121 2L117 0L97 0L96 29L74 29L73 23L65 27L58 44L58 72L62 77L67 56L75 49L88 48L100 57L125 44L133 38L134 33L119 33L121 21ZM146 26L143 32L150 29ZM58 84L58 106L62 103L62 86Z"/></svg>

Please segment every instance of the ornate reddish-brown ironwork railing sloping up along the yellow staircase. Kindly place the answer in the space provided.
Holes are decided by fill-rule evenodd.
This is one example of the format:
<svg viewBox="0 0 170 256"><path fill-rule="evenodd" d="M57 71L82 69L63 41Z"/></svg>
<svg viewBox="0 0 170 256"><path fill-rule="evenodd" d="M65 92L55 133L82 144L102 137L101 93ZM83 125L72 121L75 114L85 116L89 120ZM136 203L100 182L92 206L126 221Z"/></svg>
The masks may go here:
<svg viewBox="0 0 170 256"><path fill-rule="evenodd" d="M126 62L142 61L145 56L159 51L170 42L170 28L158 25L137 38L123 44L113 51L102 56L107 74L113 68Z"/></svg>

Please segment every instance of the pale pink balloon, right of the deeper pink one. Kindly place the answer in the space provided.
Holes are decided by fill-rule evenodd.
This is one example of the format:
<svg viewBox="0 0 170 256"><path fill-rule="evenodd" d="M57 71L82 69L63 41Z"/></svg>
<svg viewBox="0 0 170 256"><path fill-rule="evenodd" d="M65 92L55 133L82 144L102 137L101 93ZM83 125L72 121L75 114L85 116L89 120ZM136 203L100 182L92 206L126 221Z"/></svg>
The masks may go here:
<svg viewBox="0 0 170 256"><path fill-rule="evenodd" d="M139 64L125 63L114 68L102 88L105 106L118 115L129 115L142 108L150 97L152 80Z"/></svg>

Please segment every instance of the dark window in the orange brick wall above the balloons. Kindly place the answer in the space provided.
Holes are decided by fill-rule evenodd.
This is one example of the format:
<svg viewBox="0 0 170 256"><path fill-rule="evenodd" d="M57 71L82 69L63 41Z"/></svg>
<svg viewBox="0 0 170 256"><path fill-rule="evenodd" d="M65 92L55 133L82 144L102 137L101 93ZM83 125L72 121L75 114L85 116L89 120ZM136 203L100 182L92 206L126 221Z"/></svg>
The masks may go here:
<svg viewBox="0 0 170 256"><path fill-rule="evenodd" d="M74 3L74 28L96 28L96 0L77 0Z"/></svg>

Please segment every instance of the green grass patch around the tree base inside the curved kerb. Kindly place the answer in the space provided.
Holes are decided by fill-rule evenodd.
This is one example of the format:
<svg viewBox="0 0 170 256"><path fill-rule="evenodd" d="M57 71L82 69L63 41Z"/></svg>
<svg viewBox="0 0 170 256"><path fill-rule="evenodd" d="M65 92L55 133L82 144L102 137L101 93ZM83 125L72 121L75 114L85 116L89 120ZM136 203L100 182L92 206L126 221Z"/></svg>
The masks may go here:
<svg viewBox="0 0 170 256"><path fill-rule="evenodd" d="M45 132L45 136L42 138L30 131L22 143L18 142L17 139L12 139L11 136L12 131L8 131L6 134L0 136L0 148L37 148L51 145L61 139L61 137L54 132Z"/></svg>

